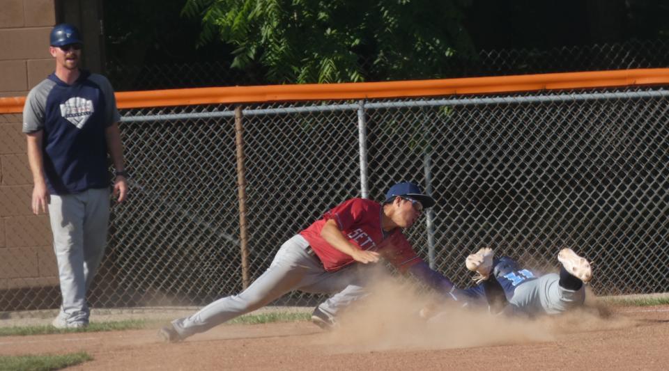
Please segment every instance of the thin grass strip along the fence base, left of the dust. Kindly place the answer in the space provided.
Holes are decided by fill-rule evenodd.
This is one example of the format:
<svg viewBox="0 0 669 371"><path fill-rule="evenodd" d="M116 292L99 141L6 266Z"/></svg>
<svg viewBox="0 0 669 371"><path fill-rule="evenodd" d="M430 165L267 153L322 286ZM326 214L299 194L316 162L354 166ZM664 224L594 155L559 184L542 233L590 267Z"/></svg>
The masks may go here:
<svg viewBox="0 0 669 371"><path fill-rule="evenodd" d="M272 322L296 322L306 321L311 315L309 313L262 313L256 315L243 315L227 322L228 324L266 324ZM41 326L12 326L0 327L0 336L30 336L48 335L52 333L81 333L100 331L123 331L150 329L164 324L166 321L127 319L114 322L91 322L88 327L82 329L56 329L51 325Z"/></svg>

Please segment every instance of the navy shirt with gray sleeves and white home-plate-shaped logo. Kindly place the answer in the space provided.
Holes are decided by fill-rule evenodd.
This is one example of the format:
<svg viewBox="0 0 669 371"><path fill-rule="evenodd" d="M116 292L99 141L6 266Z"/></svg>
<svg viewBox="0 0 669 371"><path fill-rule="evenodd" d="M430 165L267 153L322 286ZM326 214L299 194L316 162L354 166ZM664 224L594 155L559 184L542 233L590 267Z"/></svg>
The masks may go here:
<svg viewBox="0 0 669 371"><path fill-rule="evenodd" d="M30 90L23 132L43 131L43 163L52 194L109 187L105 129L121 120L109 81L82 70L68 85L55 74Z"/></svg>

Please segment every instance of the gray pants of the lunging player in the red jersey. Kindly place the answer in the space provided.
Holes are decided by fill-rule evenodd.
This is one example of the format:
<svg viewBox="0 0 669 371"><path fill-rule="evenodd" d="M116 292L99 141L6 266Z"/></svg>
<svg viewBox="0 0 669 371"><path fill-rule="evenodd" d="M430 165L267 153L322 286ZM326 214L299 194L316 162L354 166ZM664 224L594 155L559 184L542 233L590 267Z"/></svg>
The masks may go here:
<svg viewBox="0 0 669 371"><path fill-rule="evenodd" d="M335 272L323 269L315 255L307 253L309 244L301 235L285 242L270 267L240 294L218 299L190 317L172 324L182 337L207 331L218 324L266 306L292 290L334 294L321 303L325 313L336 315L341 308L367 295L362 289L376 265L352 264Z"/></svg>

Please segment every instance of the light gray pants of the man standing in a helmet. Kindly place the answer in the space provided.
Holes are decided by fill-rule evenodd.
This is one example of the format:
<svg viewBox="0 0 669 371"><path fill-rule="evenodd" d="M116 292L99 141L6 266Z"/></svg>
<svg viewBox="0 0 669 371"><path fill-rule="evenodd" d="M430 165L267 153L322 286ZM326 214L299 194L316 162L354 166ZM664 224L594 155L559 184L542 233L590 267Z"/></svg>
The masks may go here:
<svg viewBox="0 0 669 371"><path fill-rule="evenodd" d="M88 324L86 291L105 255L109 189L50 198L49 219L63 296L59 317L68 324Z"/></svg>

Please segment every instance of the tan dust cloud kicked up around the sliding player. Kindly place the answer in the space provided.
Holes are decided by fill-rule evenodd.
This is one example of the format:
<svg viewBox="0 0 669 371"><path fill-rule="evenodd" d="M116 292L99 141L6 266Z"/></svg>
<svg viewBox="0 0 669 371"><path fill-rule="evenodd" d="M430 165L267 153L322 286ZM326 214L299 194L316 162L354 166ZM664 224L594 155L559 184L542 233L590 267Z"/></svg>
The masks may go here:
<svg viewBox="0 0 669 371"><path fill-rule="evenodd" d="M339 317L339 328L318 340L332 353L453 349L560 340L583 331L634 326L597 305L592 293L583 309L538 319L491 315L487 310L440 307L426 319L419 315L435 298L415 285L378 277L369 297Z"/></svg>

